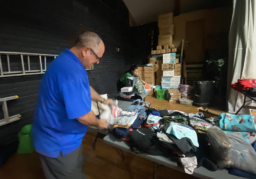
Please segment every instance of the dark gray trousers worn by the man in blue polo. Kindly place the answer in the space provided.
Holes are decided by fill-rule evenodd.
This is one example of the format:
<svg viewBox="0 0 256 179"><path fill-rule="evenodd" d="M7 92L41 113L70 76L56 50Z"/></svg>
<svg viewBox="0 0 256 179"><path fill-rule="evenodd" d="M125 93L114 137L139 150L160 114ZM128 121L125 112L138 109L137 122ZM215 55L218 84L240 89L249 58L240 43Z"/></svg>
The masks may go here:
<svg viewBox="0 0 256 179"><path fill-rule="evenodd" d="M40 154L40 160L47 179L85 179L82 169L82 145L67 155L51 158Z"/></svg>

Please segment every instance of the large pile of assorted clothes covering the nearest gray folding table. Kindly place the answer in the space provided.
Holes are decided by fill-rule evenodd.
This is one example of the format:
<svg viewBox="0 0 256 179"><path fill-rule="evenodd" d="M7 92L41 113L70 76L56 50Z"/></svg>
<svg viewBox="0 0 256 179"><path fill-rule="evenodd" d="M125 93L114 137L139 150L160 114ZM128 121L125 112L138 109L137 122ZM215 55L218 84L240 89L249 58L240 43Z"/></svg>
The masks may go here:
<svg viewBox="0 0 256 179"><path fill-rule="evenodd" d="M138 99L111 125L114 135L133 152L172 158L188 174L203 166L256 177L254 116L221 113L207 119L202 113L157 109Z"/></svg>

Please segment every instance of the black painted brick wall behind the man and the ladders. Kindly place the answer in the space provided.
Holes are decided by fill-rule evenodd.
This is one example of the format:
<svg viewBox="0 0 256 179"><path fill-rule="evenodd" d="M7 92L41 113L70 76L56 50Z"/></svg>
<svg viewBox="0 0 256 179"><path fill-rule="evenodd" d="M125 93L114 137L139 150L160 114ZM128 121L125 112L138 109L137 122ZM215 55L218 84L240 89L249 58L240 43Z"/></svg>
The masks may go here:
<svg viewBox="0 0 256 179"><path fill-rule="evenodd" d="M129 15L123 1L6 1L1 6L0 51L59 54L72 47L79 33L93 31L105 43L105 53L88 71L89 83L98 93L116 93L117 80L130 67ZM12 70L19 69L17 64L14 59ZM42 75L0 78L0 97L19 96L7 102L9 115L22 115L0 127L0 148L17 140L18 131L32 123L41 79Z"/></svg>

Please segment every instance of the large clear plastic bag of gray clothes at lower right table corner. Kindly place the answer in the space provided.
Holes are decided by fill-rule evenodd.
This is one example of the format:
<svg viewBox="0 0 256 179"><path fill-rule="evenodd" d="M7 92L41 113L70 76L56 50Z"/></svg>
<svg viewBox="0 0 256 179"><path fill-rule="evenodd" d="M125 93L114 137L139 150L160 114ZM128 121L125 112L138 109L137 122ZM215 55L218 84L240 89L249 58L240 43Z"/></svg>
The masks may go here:
<svg viewBox="0 0 256 179"><path fill-rule="evenodd" d="M227 137L232 145L228 154L232 167L256 174L256 152L253 147L239 134L227 134Z"/></svg>

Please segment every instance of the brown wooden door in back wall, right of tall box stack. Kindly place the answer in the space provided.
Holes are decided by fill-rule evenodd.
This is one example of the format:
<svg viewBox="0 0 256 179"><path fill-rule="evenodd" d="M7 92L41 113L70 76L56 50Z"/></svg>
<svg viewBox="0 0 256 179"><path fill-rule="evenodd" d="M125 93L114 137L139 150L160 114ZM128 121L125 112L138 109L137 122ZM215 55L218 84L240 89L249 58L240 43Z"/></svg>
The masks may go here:
<svg viewBox="0 0 256 179"><path fill-rule="evenodd" d="M184 52L187 63L204 61L205 19L186 22Z"/></svg>

